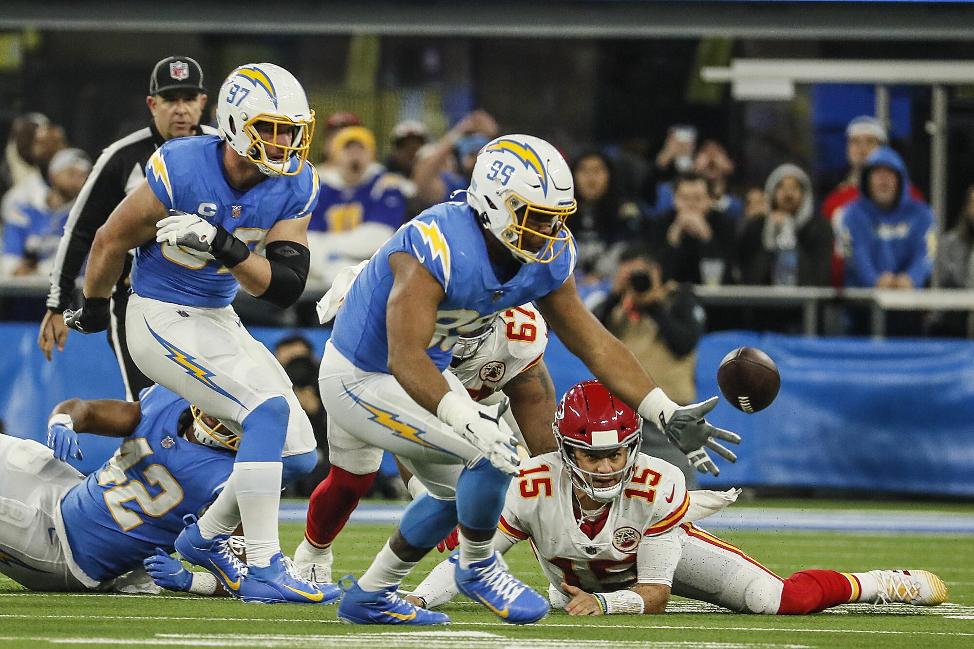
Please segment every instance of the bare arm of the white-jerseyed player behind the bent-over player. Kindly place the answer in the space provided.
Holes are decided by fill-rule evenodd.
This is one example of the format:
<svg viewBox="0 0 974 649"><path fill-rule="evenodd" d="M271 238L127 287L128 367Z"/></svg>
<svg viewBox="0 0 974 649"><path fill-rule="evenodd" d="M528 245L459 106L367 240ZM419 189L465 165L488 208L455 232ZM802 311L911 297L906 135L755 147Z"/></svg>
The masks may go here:
<svg viewBox="0 0 974 649"><path fill-rule="evenodd" d="M510 400L510 411L531 454L541 455L557 450L551 424L558 400L547 365L539 361L528 367L507 381L503 391Z"/></svg>

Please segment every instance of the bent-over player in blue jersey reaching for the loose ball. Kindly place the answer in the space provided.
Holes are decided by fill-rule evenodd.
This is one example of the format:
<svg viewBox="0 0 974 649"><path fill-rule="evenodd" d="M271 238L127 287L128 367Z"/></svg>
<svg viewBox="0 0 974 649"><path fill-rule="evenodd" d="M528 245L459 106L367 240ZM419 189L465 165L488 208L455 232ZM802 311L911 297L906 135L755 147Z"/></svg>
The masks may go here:
<svg viewBox="0 0 974 649"><path fill-rule="evenodd" d="M345 295L319 373L335 424L329 445L359 457L390 450L429 493L406 509L365 574L342 580L342 620L448 624L446 615L395 593L458 520L458 590L506 622L547 614L543 596L507 573L491 546L519 464L510 428L499 411L478 407L447 367L459 335L506 309L535 301L569 350L621 401L658 423L698 469L717 471L705 448L735 459L714 438L739 438L704 419L717 399L678 406L581 302L572 277L575 242L565 226L575 210L572 174L551 144L498 137L477 155L467 201L434 206L406 223Z"/></svg>

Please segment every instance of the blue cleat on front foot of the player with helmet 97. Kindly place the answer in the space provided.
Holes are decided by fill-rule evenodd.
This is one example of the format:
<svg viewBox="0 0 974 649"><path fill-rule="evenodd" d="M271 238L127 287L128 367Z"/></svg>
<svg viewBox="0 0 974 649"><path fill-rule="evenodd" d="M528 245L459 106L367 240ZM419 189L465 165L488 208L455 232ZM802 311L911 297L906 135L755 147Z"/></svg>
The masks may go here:
<svg viewBox="0 0 974 649"><path fill-rule="evenodd" d="M268 566L246 566L238 596L261 604L333 604L341 594L334 584L312 584L304 579L294 563L278 553Z"/></svg>

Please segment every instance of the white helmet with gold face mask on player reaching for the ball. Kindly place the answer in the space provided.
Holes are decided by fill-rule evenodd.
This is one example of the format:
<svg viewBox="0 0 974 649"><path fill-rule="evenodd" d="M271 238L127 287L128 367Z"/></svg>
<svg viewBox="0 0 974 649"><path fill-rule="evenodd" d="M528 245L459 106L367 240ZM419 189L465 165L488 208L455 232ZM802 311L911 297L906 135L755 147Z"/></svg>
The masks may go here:
<svg viewBox="0 0 974 649"><path fill-rule="evenodd" d="M467 203L525 263L549 263L564 251L572 238L565 219L578 209L565 159L542 138L521 134L502 135L480 149Z"/></svg>

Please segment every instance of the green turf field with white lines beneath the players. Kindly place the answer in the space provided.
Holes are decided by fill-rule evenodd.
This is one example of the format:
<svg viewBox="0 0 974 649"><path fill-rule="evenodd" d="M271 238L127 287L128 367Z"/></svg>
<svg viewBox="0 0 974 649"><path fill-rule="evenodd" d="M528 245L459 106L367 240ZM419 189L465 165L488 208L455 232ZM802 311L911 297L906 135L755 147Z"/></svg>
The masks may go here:
<svg viewBox="0 0 974 649"><path fill-rule="evenodd" d="M335 576L360 575L391 531L392 525L346 528L336 544ZM283 526L285 552L293 552L301 534L299 524ZM552 611L537 625L513 627L463 600L441 609L453 618L451 627L406 630L339 624L334 605L261 606L180 594L29 593L0 577L0 646L974 647L972 535L725 531L720 536L786 576L803 568L926 568L947 581L951 601L927 609L857 604L778 618L735 615L675 599L664 616L572 618ZM441 556L428 557L406 586L418 584ZM546 584L527 544L515 547L507 560L543 592Z"/></svg>

